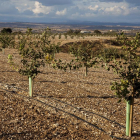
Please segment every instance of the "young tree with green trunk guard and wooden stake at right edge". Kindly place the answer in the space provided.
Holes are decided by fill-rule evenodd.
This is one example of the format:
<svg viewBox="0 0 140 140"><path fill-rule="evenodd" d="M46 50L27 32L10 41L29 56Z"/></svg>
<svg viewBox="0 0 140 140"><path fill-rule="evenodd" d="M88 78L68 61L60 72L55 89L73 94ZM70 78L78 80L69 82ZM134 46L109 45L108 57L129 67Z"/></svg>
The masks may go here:
<svg viewBox="0 0 140 140"><path fill-rule="evenodd" d="M140 57L138 50L140 49L140 34L137 33L134 38L128 39L123 33L119 36L123 44L123 58L110 58L106 63L108 70L113 69L119 77L120 81L114 82L111 89L115 90L115 94L127 101L126 116L126 135L132 135L133 106L134 98L140 96ZM130 105L130 106L129 106Z"/></svg>

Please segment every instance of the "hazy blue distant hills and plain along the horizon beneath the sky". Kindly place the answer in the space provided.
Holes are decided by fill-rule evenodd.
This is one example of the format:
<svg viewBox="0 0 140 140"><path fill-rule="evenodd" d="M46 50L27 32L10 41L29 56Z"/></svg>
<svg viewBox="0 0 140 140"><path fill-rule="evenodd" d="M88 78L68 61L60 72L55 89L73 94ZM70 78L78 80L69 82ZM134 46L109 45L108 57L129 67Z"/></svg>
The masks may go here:
<svg viewBox="0 0 140 140"><path fill-rule="evenodd" d="M36 28L44 29L87 29L87 30L132 30L140 29L140 24L132 23L104 23L104 22L78 22L67 21L64 23L27 23L27 22L0 22L0 28Z"/></svg>

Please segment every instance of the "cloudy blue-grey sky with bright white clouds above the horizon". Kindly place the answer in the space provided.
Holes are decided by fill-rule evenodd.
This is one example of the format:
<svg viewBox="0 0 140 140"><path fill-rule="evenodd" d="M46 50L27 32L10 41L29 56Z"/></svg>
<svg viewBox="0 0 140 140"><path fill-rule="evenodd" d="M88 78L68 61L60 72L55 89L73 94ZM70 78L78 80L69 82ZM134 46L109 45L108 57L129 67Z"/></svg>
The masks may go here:
<svg viewBox="0 0 140 140"><path fill-rule="evenodd" d="M0 0L0 22L140 23L140 0Z"/></svg>

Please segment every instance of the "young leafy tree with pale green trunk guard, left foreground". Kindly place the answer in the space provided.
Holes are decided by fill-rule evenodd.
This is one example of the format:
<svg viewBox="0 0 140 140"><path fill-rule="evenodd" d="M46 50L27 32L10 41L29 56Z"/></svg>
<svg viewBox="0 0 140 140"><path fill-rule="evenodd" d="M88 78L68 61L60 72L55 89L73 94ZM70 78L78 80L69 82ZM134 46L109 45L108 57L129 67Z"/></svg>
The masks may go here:
<svg viewBox="0 0 140 140"><path fill-rule="evenodd" d="M37 76L40 66L44 66L44 54L39 48L34 47L34 42L27 42L23 38L19 43L19 55L21 56L21 63L17 65L13 62L12 55L8 56L9 63L20 74L28 76L29 78L29 96L33 96L33 79Z"/></svg>

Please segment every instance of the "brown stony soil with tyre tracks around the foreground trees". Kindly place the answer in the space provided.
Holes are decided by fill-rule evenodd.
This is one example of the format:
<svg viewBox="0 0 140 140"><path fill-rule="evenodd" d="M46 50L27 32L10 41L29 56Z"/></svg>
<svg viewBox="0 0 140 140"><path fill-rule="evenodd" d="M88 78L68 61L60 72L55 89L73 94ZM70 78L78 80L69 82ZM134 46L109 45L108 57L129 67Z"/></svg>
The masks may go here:
<svg viewBox="0 0 140 140"><path fill-rule="evenodd" d="M41 68L34 80L34 93L28 95L28 79L7 63L8 54L0 52L0 139L46 140L139 140L140 99L135 99L133 136L125 136L125 102L110 90L117 75L101 68L63 72ZM57 58L69 60L68 54Z"/></svg>

